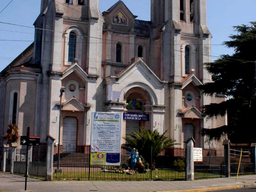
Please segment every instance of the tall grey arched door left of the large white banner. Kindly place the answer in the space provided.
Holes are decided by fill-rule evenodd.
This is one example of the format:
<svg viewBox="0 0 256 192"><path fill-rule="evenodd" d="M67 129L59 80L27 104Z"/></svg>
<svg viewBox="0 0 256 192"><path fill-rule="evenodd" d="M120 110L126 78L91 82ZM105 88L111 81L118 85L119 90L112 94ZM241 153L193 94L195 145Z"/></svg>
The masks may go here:
<svg viewBox="0 0 256 192"><path fill-rule="evenodd" d="M65 117L63 119L63 153L76 152L77 119Z"/></svg>

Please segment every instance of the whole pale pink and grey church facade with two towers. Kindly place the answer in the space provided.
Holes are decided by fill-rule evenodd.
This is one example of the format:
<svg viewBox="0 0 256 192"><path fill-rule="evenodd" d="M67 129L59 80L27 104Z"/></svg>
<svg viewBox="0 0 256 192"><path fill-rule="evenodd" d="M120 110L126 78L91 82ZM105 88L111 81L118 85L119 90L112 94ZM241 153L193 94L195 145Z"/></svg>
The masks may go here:
<svg viewBox="0 0 256 192"><path fill-rule="evenodd" d="M189 137L208 147L200 129L226 118L203 116L225 98L197 89L211 81L206 0L151 0L151 20L136 17L120 0L103 13L99 0L41 0L35 41L0 73L0 133L30 127L42 144L50 135L62 152L85 152L92 112L119 112L148 115L123 120L121 137L143 126L166 131L175 148Z"/></svg>

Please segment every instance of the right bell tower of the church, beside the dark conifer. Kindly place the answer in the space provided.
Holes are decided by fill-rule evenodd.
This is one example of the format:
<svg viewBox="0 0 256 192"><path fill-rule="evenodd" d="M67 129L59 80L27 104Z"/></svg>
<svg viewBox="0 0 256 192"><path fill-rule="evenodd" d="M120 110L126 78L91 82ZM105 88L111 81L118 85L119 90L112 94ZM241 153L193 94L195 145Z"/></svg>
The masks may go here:
<svg viewBox="0 0 256 192"><path fill-rule="evenodd" d="M211 81L203 64L210 62L211 34L206 26L206 0L151 0L150 67L160 79L168 81L165 88L165 129L176 142L184 141L184 126L193 124L198 146L203 138L200 127L212 127L213 120L187 120L180 111L186 109L186 94L194 94L200 111L202 105L214 102L214 98L198 96L197 83ZM197 83L184 84L186 79ZM189 96L191 96L189 94ZM190 100L187 102L191 102ZM191 107L194 105L191 105ZM200 112L199 112L200 113ZM197 132L197 133L196 133ZM197 135L197 136L196 136ZM179 147L183 147L181 144Z"/></svg>

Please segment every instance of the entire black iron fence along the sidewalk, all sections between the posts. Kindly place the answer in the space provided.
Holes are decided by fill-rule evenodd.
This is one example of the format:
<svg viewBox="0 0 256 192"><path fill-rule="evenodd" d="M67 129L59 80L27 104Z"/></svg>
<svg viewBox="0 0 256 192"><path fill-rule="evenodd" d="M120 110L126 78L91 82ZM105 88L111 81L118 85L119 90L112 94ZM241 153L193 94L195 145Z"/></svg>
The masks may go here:
<svg viewBox="0 0 256 192"><path fill-rule="evenodd" d="M230 150L230 173L254 174L254 162L251 150ZM54 180L185 180L186 160L184 150L174 151L174 155L160 155L153 167L145 162L143 167L134 170L129 168L129 155L121 155L121 166L90 166L89 153L61 153L59 169L54 172ZM11 151L7 150L6 171L11 168ZM46 146L33 146L28 154L29 175L46 177ZM241 157L241 164L239 161ZM58 155L54 155L53 170L55 171ZM26 171L26 149L16 151L13 172L25 174ZM224 150L203 149L202 162L194 162L195 179L210 177L225 177L226 165L224 164Z"/></svg>

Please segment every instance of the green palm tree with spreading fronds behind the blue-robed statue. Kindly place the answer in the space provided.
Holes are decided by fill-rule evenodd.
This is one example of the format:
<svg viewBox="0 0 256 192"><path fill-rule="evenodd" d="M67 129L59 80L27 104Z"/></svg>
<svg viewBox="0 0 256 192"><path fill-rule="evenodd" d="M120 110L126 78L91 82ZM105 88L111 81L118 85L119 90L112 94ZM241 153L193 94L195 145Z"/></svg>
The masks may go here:
<svg viewBox="0 0 256 192"><path fill-rule="evenodd" d="M123 144L122 148L128 151L132 151L133 148L137 149L139 155L141 155L148 164L151 164L152 147L152 166L154 167L160 152L176 144L175 140L167 138L165 133L166 131L160 135L157 130L152 132L151 130L146 130L144 127L140 127L139 131L134 131L124 138L126 144Z"/></svg>

